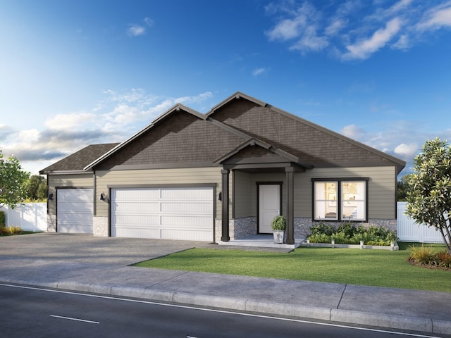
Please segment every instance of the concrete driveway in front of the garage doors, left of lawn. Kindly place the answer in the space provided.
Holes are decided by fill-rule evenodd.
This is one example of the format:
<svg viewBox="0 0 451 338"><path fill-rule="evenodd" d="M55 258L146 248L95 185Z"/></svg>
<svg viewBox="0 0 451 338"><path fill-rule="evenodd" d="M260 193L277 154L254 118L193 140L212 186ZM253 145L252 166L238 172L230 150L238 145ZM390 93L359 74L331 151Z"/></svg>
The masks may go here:
<svg viewBox="0 0 451 338"><path fill-rule="evenodd" d="M130 265L207 242L93 237L92 234L37 233L0 237L2 258L30 258L72 263Z"/></svg>

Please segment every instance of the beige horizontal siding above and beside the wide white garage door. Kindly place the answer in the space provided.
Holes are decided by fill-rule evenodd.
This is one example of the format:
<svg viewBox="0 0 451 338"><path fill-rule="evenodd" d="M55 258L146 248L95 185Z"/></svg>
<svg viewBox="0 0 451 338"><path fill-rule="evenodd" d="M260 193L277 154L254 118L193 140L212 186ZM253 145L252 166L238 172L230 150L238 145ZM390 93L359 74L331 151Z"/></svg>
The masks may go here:
<svg viewBox="0 0 451 338"><path fill-rule="evenodd" d="M231 177L232 175L230 175ZM112 170L97 171L96 215L108 215L106 202L98 201L101 193L108 194L109 187L159 185L159 184L216 184L215 212L216 218L221 218L221 203L218 194L221 187L221 168L184 168L184 169L153 169L153 170ZM230 180L232 184L232 180ZM231 213L230 213L231 215Z"/></svg>

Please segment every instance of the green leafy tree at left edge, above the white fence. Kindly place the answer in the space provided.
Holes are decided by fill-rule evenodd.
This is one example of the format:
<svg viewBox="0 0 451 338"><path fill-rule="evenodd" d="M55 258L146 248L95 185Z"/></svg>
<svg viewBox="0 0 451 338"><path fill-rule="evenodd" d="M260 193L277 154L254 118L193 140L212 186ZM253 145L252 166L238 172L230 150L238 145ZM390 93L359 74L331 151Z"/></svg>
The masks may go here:
<svg viewBox="0 0 451 338"><path fill-rule="evenodd" d="M16 208L27 197L28 177L16 156L5 159L0 151L0 206Z"/></svg>

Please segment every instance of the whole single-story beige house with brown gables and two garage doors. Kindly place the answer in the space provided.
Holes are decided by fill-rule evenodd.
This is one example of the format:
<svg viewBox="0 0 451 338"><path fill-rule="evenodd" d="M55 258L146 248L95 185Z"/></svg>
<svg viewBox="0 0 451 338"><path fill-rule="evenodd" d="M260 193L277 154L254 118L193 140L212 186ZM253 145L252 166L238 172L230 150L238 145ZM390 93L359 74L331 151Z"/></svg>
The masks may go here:
<svg viewBox="0 0 451 338"><path fill-rule="evenodd" d="M121 144L43 169L49 231L227 242L288 220L396 229L404 161L237 92L202 114L181 104Z"/></svg>

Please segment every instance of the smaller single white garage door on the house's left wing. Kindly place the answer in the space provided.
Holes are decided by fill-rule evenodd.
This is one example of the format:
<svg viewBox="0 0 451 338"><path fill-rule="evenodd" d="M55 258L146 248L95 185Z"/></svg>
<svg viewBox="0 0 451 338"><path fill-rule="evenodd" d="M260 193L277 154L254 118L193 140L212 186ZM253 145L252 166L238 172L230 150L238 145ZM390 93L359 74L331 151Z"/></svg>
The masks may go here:
<svg viewBox="0 0 451 338"><path fill-rule="evenodd" d="M92 199L92 189L58 189L58 232L92 234Z"/></svg>

